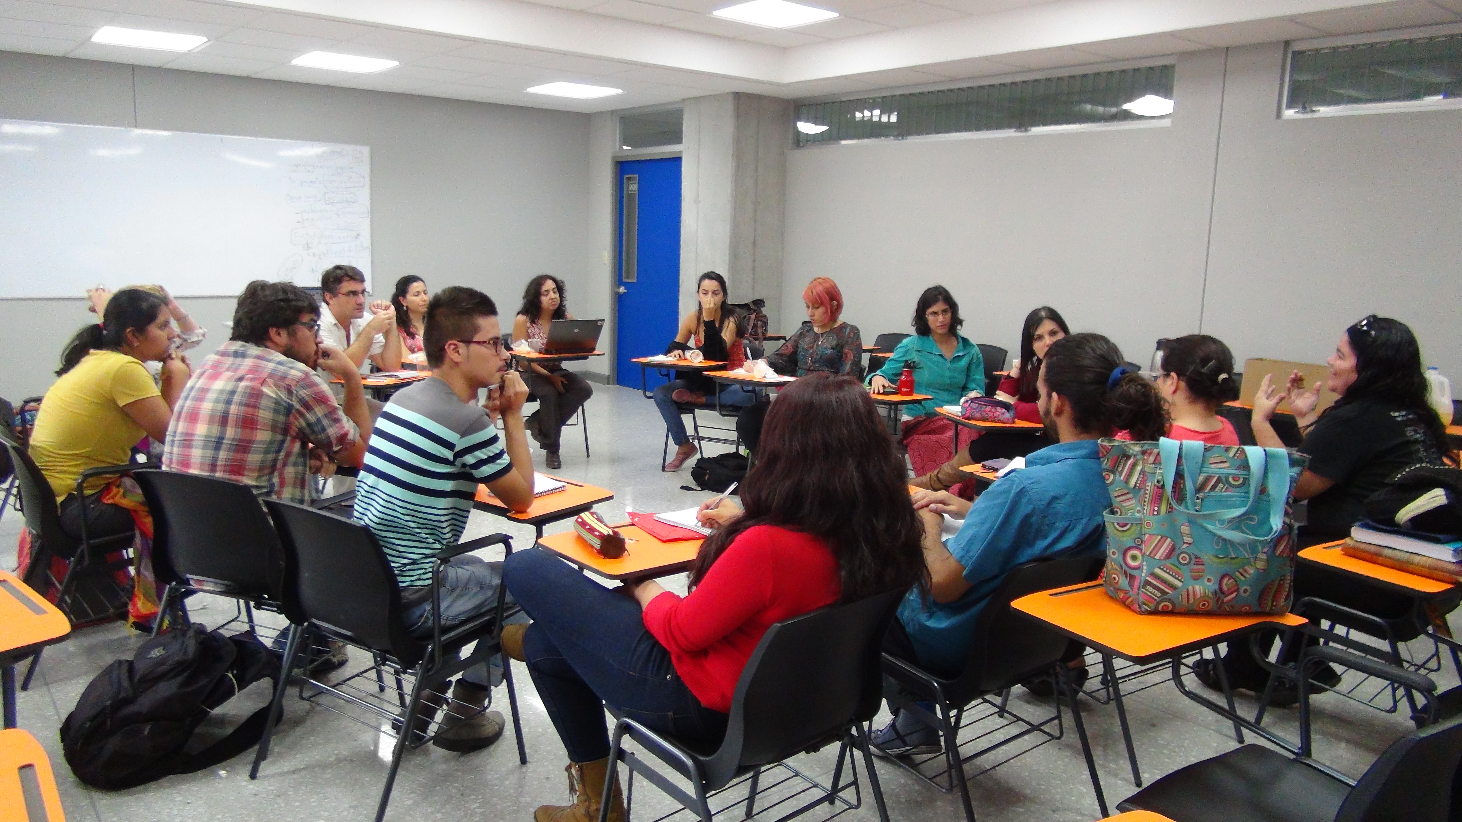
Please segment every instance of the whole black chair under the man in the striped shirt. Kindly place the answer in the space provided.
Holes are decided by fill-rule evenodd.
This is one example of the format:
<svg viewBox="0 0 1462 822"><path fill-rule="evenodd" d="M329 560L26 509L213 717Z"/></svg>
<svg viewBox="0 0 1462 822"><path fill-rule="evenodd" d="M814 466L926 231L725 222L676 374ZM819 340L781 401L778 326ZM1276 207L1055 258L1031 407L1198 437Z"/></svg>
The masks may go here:
<svg viewBox="0 0 1462 822"><path fill-rule="evenodd" d="M279 544L284 548L281 606L285 616L294 625L303 625L307 630L319 630L330 639L361 648L374 658L371 667L333 685L313 679L306 680L317 690L306 695L304 685L301 685L300 696L335 711L336 708L319 702L320 696L330 695L366 711L373 718L385 718L392 723L392 728L396 731L396 746L376 809L376 822L380 822L386 815L390 790L396 783L396 771L401 768L401 758L406 747L420 747L436 736L412 733L423 695L436 692L449 677L499 654L501 651L503 619L516 613L516 608L506 608L507 588L500 587L494 610L443 629L437 619L442 569L452 557L488 546L503 546L510 554L513 551L512 538L507 534L493 534L459 543L437 553L431 568L431 639L418 641L408 632L396 575L370 528L303 505L265 500L265 506L273 518L279 532ZM291 632L289 645L285 648L284 670L287 671L292 670L301 633L304 632ZM477 645L472 652L466 658L458 660L458 651L474 642ZM382 682L383 670L396 680L395 704L377 696L376 683ZM367 674L374 674L376 682L361 687L357 680ZM404 674L412 677L409 696L402 683ZM523 747L523 730L518 717L513 670L506 655L503 655L503 676L507 683L507 702L513 714L513 733L518 737L518 759L526 763L528 752ZM265 737L259 742L249 778L259 775L259 765L269 756L272 730L284 704L287 680L288 677L279 677L270 712L272 721L266 723ZM345 711L339 712L355 718ZM376 727L376 723L363 721L363 724Z"/></svg>

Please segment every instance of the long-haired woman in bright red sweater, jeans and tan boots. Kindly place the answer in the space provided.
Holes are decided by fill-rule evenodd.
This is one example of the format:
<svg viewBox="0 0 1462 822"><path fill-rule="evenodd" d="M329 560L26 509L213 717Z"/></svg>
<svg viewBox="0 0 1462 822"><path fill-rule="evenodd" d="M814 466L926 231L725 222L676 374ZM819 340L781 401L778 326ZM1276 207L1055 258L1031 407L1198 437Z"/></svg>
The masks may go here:
<svg viewBox="0 0 1462 822"><path fill-rule="evenodd" d="M544 550L503 565L534 619L504 632L503 649L528 663L576 791L572 806L539 807L537 822L598 819L605 704L654 730L716 742L768 627L927 579L904 464L857 380L813 373L791 383L768 410L757 453L744 512L700 546L686 597L654 579L610 591ZM624 819L617 787L610 819Z"/></svg>

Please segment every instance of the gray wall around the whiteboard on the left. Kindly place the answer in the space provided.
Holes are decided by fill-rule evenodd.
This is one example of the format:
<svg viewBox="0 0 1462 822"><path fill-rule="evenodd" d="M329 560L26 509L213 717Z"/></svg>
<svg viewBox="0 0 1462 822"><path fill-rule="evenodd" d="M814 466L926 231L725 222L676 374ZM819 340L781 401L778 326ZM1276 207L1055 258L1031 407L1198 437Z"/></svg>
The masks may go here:
<svg viewBox="0 0 1462 822"><path fill-rule="evenodd" d="M532 275L585 294L598 259L586 114L0 51L0 117L368 145L377 294L418 274L487 291L510 320ZM228 338L234 301L184 307L209 329L197 361ZM80 295L0 301L3 395L42 393L89 317Z"/></svg>

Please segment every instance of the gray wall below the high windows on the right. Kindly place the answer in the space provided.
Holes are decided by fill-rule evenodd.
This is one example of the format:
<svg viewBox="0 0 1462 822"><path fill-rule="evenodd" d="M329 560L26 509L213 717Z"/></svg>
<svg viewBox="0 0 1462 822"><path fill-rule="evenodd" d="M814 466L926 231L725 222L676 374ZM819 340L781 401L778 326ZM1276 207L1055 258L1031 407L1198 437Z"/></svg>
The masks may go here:
<svg viewBox="0 0 1462 822"><path fill-rule="evenodd" d="M1199 331L1320 363L1377 312L1462 377L1462 111L1278 120L1282 53L1181 56L1171 127L794 149L782 331L816 275L868 341L943 282L977 342L1051 304L1142 364Z"/></svg>

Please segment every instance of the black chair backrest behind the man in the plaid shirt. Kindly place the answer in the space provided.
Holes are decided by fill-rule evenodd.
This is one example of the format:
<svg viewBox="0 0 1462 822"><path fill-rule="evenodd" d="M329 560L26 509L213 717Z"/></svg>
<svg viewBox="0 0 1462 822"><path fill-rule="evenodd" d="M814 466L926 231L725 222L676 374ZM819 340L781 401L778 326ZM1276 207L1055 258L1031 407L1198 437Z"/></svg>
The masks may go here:
<svg viewBox="0 0 1462 822"><path fill-rule="evenodd" d="M152 513L152 570L159 582L202 582L231 597L278 603L284 585L279 534L243 483L136 471Z"/></svg>

